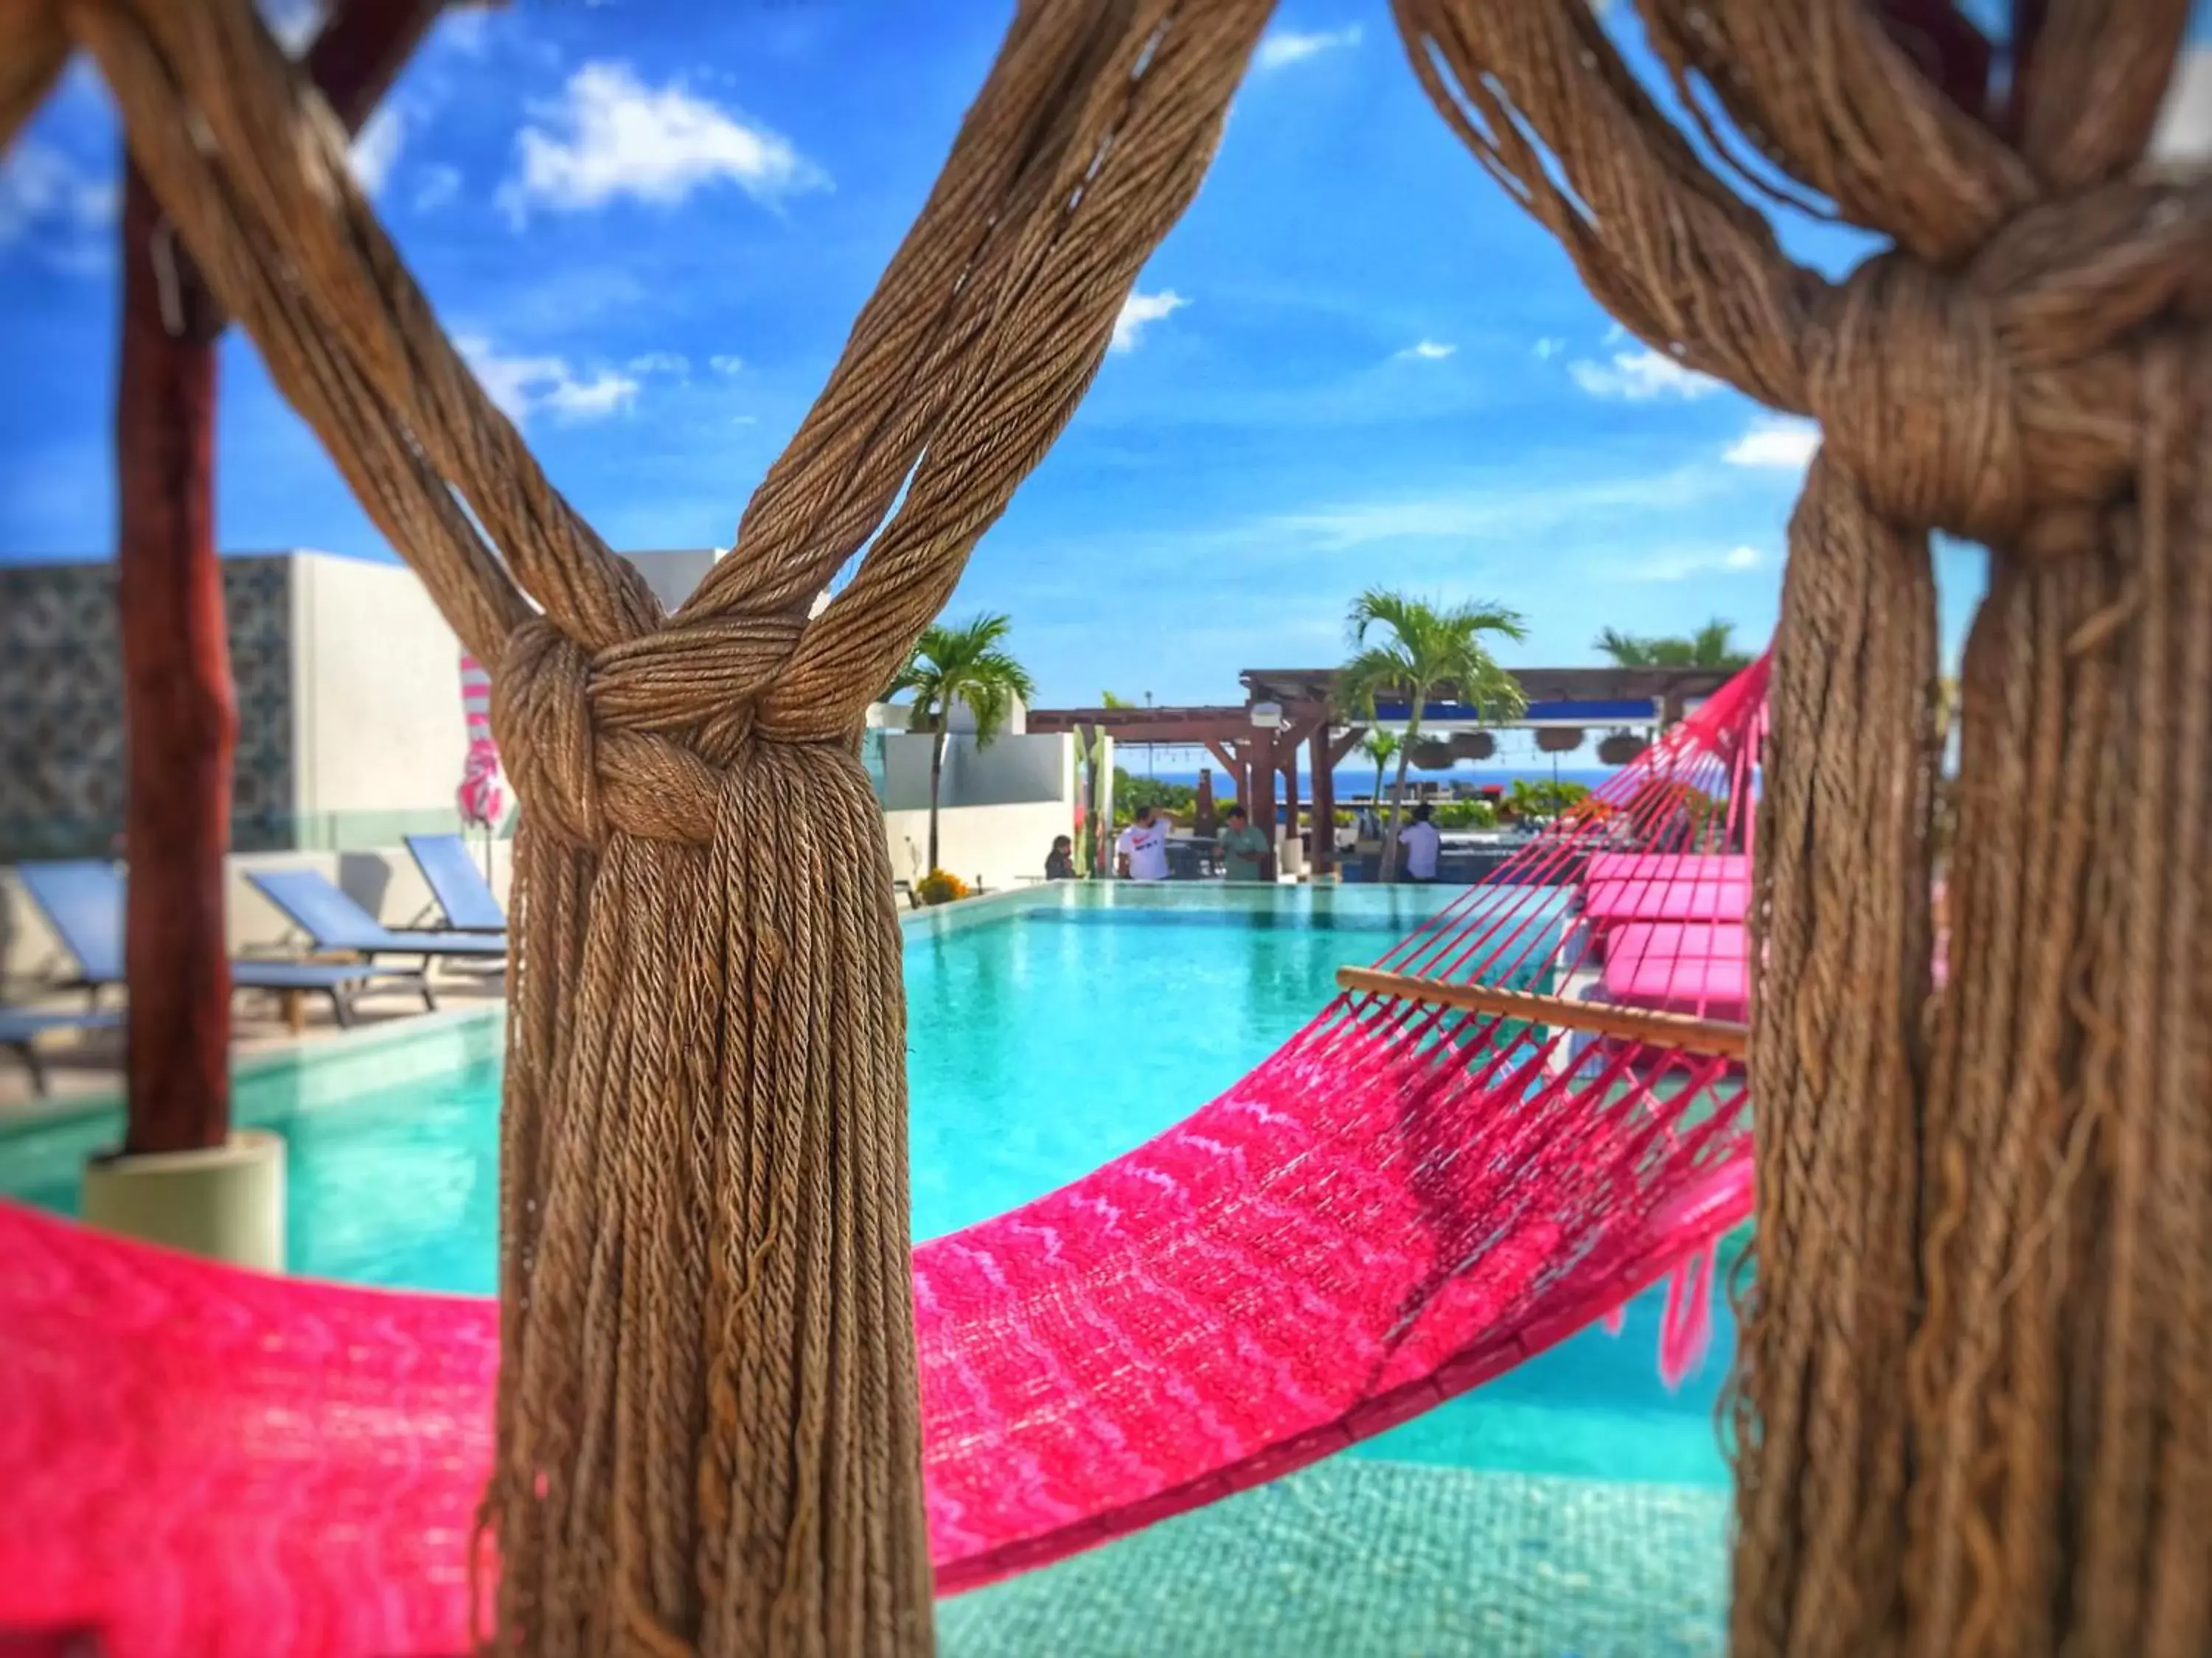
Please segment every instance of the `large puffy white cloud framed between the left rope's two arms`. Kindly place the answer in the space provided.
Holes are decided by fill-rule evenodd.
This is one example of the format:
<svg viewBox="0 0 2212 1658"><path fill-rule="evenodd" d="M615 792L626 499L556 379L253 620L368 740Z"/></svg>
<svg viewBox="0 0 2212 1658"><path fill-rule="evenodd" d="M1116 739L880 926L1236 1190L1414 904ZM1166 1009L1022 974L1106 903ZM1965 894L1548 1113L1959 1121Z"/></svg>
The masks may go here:
<svg viewBox="0 0 2212 1658"><path fill-rule="evenodd" d="M498 197L513 223L533 206L580 212L617 197L670 206L723 181L765 203L830 183L779 133L681 84L646 86L626 64L584 64L560 102L533 113L540 124L515 139L520 170Z"/></svg>

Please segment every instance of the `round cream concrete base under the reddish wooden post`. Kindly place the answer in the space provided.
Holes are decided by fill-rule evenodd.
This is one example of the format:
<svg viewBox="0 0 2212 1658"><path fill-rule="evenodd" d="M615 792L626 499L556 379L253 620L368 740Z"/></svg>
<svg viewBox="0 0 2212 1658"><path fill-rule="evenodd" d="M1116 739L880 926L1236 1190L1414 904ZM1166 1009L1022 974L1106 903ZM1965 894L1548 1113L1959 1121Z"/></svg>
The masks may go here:
<svg viewBox="0 0 2212 1658"><path fill-rule="evenodd" d="M257 1271L283 1271L283 1138L241 1130L208 1152L111 1152L84 1165L84 1222Z"/></svg>

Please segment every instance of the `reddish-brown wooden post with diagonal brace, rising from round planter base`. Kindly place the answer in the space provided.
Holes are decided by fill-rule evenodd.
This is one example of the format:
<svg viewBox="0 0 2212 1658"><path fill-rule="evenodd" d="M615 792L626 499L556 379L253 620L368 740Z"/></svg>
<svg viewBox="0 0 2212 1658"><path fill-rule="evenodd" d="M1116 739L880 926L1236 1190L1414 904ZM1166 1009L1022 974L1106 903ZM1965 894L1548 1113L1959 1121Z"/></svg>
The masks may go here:
<svg viewBox="0 0 2212 1658"><path fill-rule="evenodd" d="M307 69L358 130L440 0L341 0ZM115 396L115 608L128 789L124 1150L192 1152L230 1132L223 853L237 696L215 550L215 343L226 318L137 168L124 172Z"/></svg>

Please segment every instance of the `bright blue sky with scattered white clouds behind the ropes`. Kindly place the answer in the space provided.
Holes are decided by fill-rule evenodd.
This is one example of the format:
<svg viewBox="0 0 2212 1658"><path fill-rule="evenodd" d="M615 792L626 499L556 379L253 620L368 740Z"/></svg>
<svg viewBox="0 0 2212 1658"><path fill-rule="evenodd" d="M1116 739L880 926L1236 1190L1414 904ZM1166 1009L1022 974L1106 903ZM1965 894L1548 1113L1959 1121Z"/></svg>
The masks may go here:
<svg viewBox="0 0 2212 1658"><path fill-rule="evenodd" d="M270 11L296 24L299 0ZM538 0L442 20L365 133L416 276L617 548L726 544L905 232L1004 4ZM115 124L71 73L0 172L0 562L113 537ZM1847 234L1785 225L1836 270ZM230 550L389 557L223 347ZM1413 84L1383 0L1287 4L1091 398L949 612L1044 701L1234 694L1356 588L1486 597L1511 661L1772 628L1809 433L1621 338ZM1980 555L1947 553L1947 637Z"/></svg>

